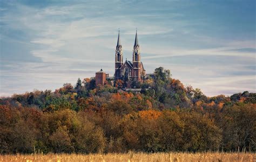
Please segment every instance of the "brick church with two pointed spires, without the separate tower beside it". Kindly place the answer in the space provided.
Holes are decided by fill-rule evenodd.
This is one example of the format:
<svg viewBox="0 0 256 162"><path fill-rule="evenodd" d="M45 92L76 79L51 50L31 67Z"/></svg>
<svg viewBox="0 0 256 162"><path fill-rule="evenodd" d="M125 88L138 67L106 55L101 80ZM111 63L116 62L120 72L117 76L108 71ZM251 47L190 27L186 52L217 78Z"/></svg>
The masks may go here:
<svg viewBox="0 0 256 162"><path fill-rule="evenodd" d="M126 79L127 81L143 81L146 71L143 67L143 63L140 61L140 49L137 31L133 45L132 62L127 59L125 62L123 62L123 48L120 42L120 33L118 33L115 58L114 80Z"/></svg>

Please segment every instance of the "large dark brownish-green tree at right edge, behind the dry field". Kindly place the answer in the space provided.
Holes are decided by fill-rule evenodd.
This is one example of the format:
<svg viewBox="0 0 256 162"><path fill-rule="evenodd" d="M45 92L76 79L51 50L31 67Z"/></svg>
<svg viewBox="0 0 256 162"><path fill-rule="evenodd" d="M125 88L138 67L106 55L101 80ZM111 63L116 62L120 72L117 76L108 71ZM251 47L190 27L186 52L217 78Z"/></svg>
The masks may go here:
<svg viewBox="0 0 256 162"><path fill-rule="evenodd" d="M223 147L232 151L256 150L256 104L227 106L222 114Z"/></svg>

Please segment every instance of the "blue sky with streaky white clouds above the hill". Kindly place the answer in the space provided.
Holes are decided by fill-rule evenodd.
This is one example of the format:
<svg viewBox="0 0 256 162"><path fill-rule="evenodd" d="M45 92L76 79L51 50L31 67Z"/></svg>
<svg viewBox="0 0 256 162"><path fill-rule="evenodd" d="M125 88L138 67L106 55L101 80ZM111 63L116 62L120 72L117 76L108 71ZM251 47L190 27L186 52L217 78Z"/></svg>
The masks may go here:
<svg viewBox="0 0 256 162"><path fill-rule="evenodd" d="M118 29L131 60L206 96L256 92L256 1L0 0L0 96L114 73Z"/></svg>

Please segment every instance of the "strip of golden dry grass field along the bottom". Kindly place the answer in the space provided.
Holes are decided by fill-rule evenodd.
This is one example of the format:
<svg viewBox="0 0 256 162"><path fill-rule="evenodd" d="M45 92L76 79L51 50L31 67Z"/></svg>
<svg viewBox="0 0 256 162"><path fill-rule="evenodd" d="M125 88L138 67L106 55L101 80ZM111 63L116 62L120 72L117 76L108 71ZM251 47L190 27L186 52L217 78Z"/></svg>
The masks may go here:
<svg viewBox="0 0 256 162"><path fill-rule="evenodd" d="M256 161L255 153L17 154L0 161Z"/></svg>

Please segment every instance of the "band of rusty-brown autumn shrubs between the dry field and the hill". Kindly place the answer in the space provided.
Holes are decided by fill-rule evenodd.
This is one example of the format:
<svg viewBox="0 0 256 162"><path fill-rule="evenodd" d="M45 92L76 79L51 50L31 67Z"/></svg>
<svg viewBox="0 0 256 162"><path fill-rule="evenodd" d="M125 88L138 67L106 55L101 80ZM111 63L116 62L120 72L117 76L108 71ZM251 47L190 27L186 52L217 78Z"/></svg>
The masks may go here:
<svg viewBox="0 0 256 162"><path fill-rule="evenodd" d="M255 151L255 104L201 110L132 111L121 100L102 111L41 112L0 107L2 153ZM118 110L120 107L120 112ZM219 123L215 123L215 118Z"/></svg>

